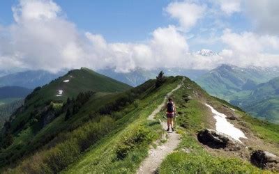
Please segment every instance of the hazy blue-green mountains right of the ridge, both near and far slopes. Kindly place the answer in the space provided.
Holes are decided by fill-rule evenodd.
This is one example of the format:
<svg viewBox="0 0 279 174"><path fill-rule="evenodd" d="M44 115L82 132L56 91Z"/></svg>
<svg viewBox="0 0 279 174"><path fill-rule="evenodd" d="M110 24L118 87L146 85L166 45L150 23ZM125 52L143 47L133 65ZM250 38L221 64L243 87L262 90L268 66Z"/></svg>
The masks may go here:
<svg viewBox="0 0 279 174"><path fill-rule="evenodd" d="M196 82L209 94L240 106L253 116L279 122L279 83L276 77L279 77L279 68L220 65Z"/></svg>

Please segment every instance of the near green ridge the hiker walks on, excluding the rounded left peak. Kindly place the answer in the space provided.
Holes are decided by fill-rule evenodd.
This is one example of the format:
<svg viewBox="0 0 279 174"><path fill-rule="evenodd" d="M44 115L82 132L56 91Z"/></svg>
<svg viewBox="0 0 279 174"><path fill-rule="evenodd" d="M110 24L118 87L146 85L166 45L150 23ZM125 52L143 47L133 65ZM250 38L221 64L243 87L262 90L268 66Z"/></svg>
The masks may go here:
<svg viewBox="0 0 279 174"><path fill-rule="evenodd" d="M6 163L3 170L7 173L136 173L146 157L159 155L149 154L150 148L164 151L164 145L172 143L170 134L177 133L180 139L176 150L163 158L159 166L153 166L159 173L259 173L262 169L255 167L259 165L254 163L251 153L266 150L279 155L278 126L251 118L239 108L211 97L190 79L182 79L150 80L123 93L95 93L75 113L72 112L75 103L82 97L64 103L63 113L41 129L29 145L40 136L46 139L47 134L61 133L38 146L41 147L36 148L38 151L33 150L33 155L27 155L20 163L6 157L13 165ZM156 88L156 84L160 86ZM167 133L160 125L160 122L165 124L165 112L160 111L160 106L171 91L178 114L176 133ZM155 120L149 119L151 116ZM225 129L220 127L220 121ZM206 128L223 132L207 136L208 139L220 136L216 138L216 146L206 145L199 139ZM14 141L22 141L27 132L28 129L21 139L17 136ZM238 132L243 135L239 136ZM5 153L2 151L1 155ZM277 165L271 161L262 167L271 170L271 164Z"/></svg>

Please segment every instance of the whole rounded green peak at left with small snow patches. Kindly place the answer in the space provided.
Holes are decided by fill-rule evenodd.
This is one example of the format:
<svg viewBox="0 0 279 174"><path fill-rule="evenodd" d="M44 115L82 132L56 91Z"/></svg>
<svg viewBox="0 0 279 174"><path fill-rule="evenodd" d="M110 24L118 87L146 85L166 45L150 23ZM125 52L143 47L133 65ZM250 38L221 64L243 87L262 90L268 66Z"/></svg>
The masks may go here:
<svg viewBox="0 0 279 174"><path fill-rule="evenodd" d="M25 98L24 105L13 113L1 131L0 145L4 150L0 154L0 164L8 164L28 155L54 139L61 130L77 126L77 122L63 124L67 109L70 109L67 117L77 113L89 97L97 100L93 101L96 104L94 108L100 109L103 103L110 102L114 93L130 88L86 68L72 70L50 84L36 88ZM110 97L106 98L107 95ZM99 99L100 97L102 98ZM59 122L54 121L56 118L60 119Z"/></svg>

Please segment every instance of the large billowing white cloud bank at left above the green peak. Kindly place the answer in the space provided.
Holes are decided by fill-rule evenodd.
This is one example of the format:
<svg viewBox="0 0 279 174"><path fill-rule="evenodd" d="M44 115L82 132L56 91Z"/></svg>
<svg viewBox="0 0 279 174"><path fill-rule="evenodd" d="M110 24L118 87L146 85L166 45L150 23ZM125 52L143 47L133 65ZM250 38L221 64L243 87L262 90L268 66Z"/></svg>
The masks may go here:
<svg viewBox="0 0 279 174"><path fill-rule="evenodd" d="M51 0L22 0L13 13L15 24L0 31L5 35L0 41L1 69L56 72L86 66L128 72L137 66L176 66L188 52L186 38L175 26L156 29L146 44L108 43L102 35L80 33Z"/></svg>

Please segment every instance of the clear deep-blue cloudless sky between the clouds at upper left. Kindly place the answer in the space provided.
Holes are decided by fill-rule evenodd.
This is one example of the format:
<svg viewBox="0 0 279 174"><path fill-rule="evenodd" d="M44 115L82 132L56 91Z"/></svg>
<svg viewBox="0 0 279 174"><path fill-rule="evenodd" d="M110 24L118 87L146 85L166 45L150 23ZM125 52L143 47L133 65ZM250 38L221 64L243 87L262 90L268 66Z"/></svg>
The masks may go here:
<svg viewBox="0 0 279 174"><path fill-rule="evenodd" d="M77 27L92 33L101 33L110 42L145 40L158 26L173 23L163 8L169 0L141 1L54 1ZM13 22L11 7L17 0L0 2L0 24Z"/></svg>

